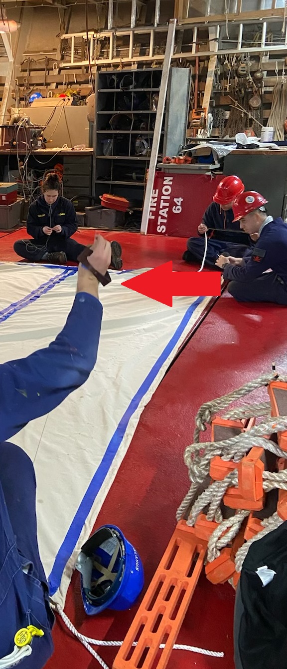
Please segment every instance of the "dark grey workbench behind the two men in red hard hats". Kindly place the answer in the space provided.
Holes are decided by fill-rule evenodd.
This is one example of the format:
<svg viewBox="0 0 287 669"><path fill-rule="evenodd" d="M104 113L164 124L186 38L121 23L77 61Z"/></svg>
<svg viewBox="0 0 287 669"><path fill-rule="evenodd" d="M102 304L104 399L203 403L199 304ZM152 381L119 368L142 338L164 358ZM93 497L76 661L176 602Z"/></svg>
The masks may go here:
<svg viewBox="0 0 287 669"><path fill-rule="evenodd" d="M287 149L236 149L224 159L224 175L236 174L246 191L258 191L268 200L274 218L287 215Z"/></svg>

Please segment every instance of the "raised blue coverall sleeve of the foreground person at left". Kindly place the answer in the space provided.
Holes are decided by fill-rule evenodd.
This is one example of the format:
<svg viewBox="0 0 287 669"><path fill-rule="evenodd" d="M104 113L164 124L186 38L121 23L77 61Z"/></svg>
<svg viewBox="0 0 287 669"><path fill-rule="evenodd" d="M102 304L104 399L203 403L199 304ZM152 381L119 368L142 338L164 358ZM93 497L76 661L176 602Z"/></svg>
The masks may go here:
<svg viewBox="0 0 287 669"><path fill-rule="evenodd" d="M47 349L0 365L0 442L87 381L97 359L102 312L99 300L78 293L63 330Z"/></svg>

